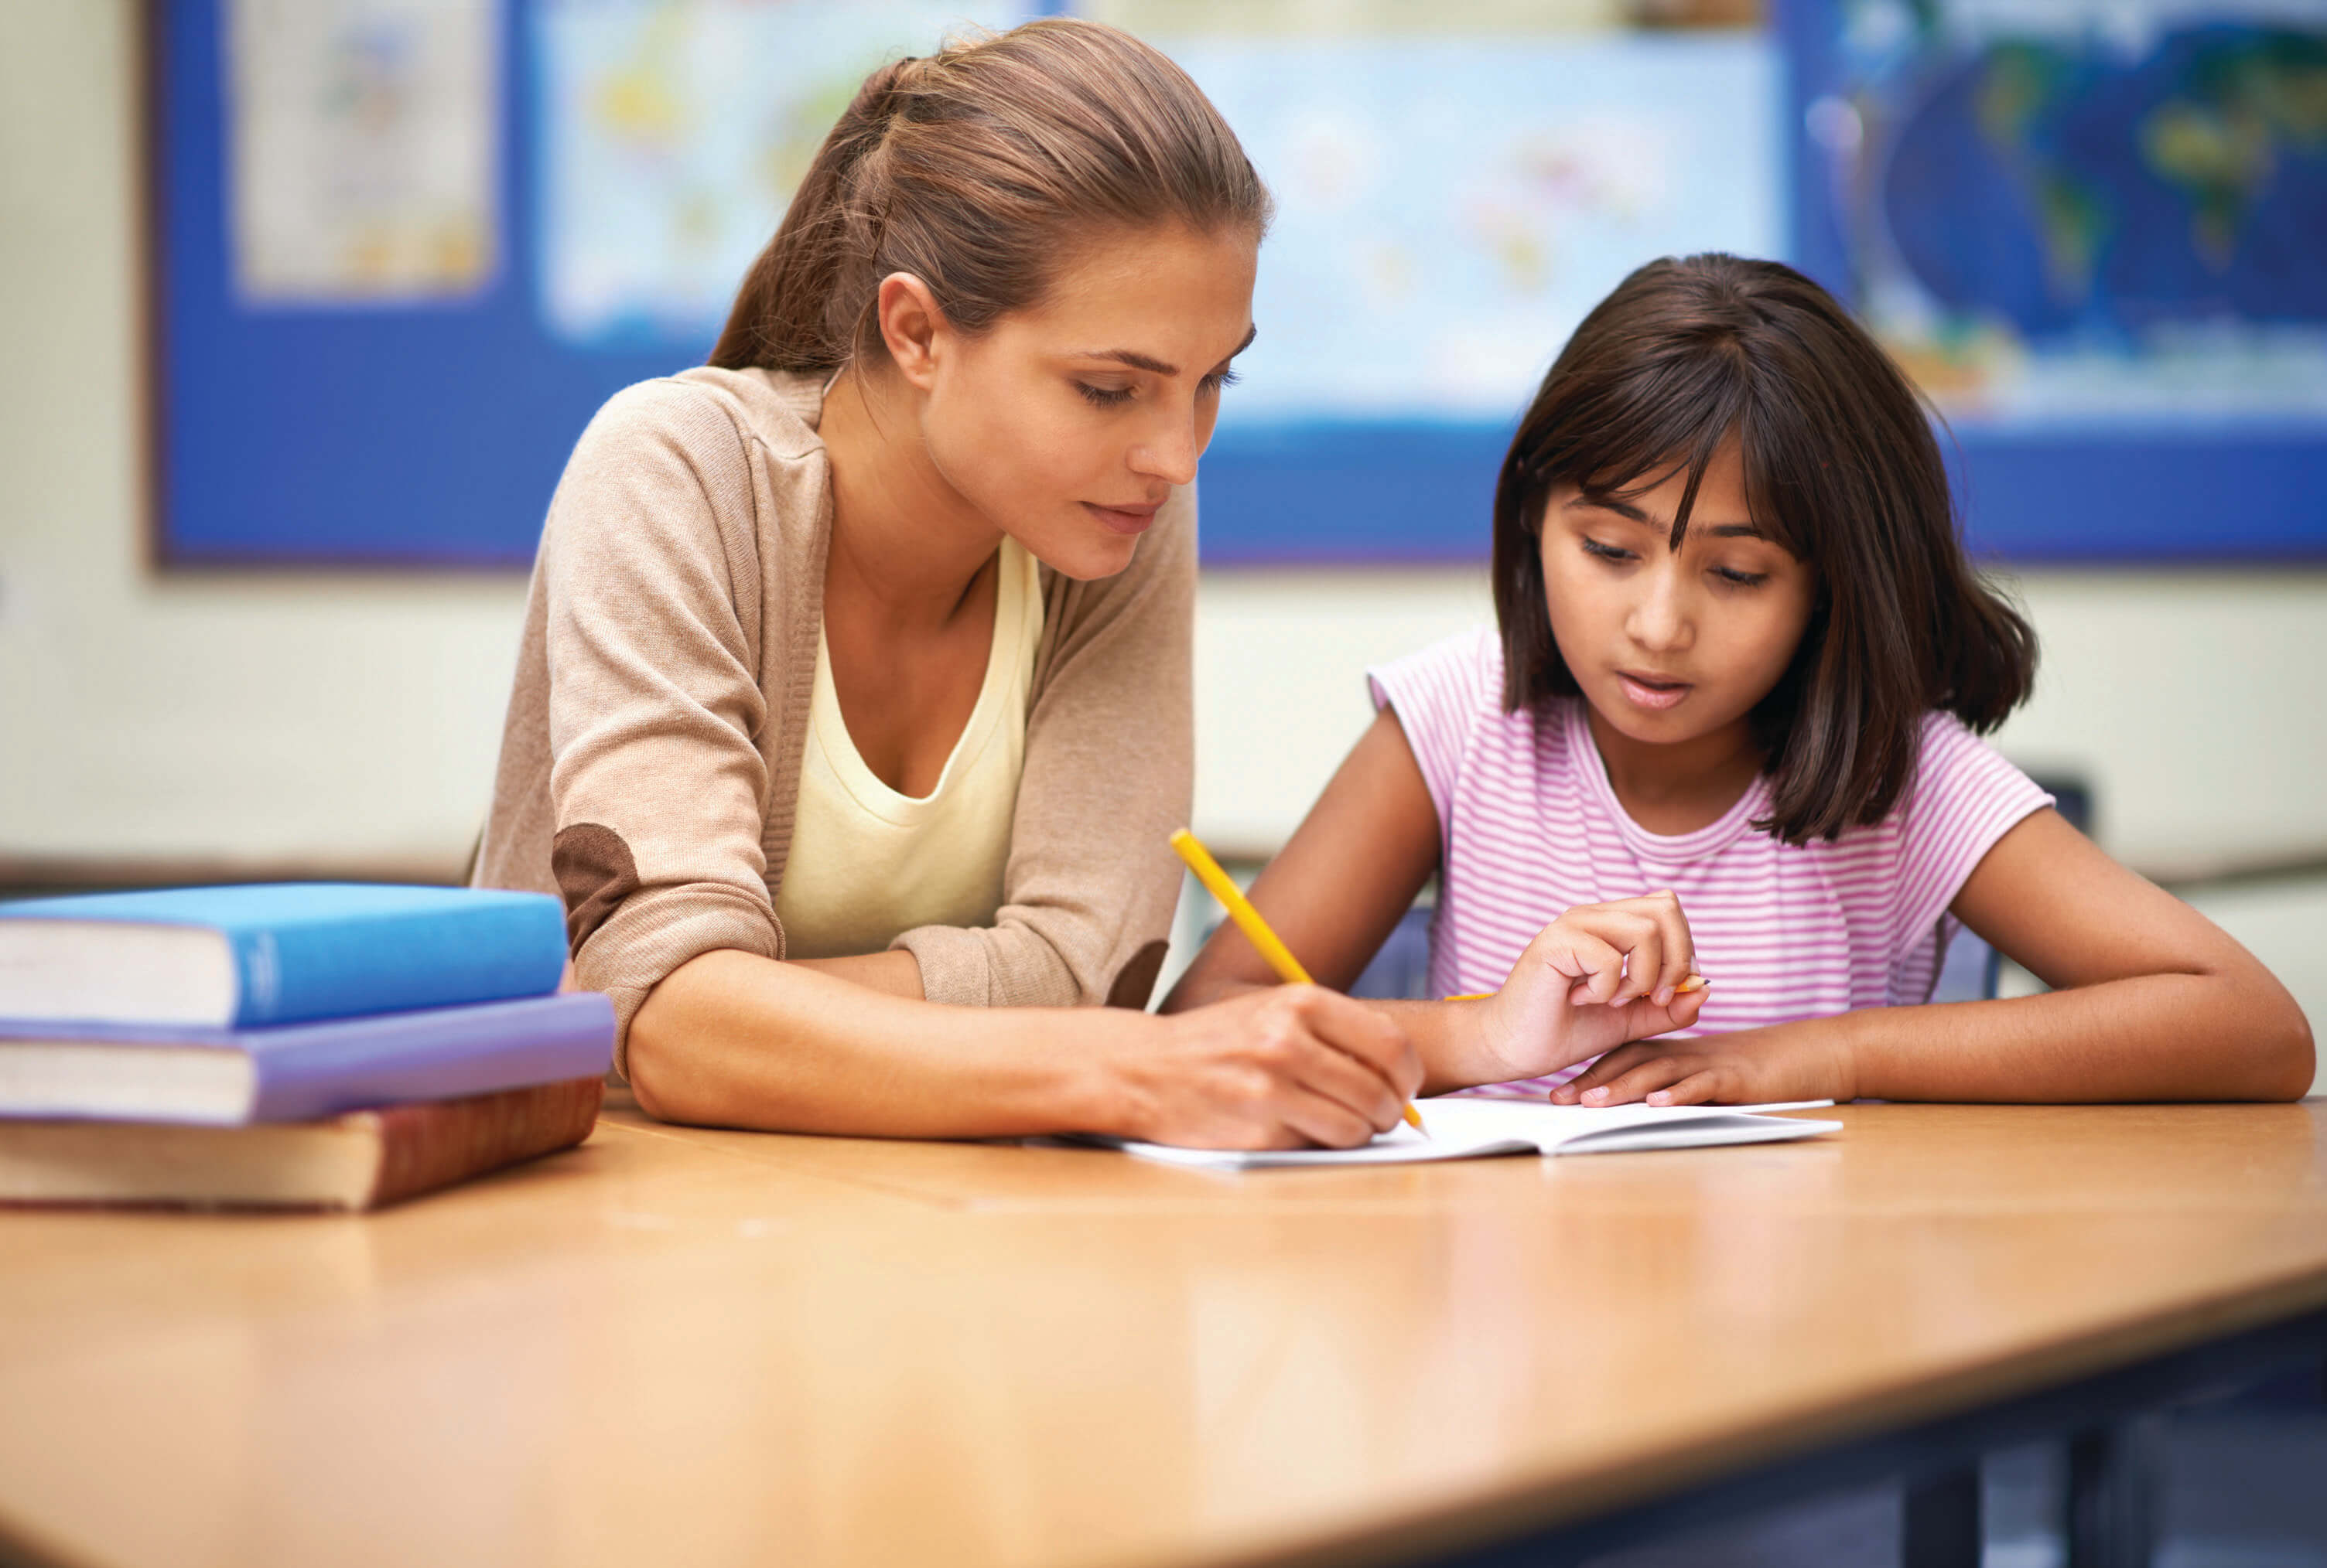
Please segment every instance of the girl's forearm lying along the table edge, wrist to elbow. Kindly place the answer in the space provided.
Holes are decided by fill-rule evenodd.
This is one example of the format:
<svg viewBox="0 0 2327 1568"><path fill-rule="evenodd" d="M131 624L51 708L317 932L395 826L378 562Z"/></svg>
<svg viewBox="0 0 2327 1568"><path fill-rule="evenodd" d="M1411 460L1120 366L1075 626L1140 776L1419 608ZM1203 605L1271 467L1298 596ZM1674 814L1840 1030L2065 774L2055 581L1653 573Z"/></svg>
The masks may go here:
<svg viewBox="0 0 2327 1568"><path fill-rule="evenodd" d="M1845 1042L1850 1089L1869 1100L2297 1100L2313 1075L2311 1028L2260 965L1869 1007L1792 1031Z"/></svg>

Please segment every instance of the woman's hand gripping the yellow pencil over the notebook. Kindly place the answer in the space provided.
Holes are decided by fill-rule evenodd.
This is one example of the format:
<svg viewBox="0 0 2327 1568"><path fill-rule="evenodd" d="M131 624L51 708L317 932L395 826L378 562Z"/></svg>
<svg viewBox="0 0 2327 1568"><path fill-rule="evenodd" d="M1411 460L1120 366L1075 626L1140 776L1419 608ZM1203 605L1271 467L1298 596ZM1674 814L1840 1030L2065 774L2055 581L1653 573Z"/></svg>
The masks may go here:
<svg viewBox="0 0 2327 1568"><path fill-rule="evenodd" d="M1157 1040L1157 1033L1161 1040ZM1347 1149L1399 1124L1422 1059L1322 986L1266 986L1154 1019L1110 1065L1101 1131L1194 1149Z"/></svg>

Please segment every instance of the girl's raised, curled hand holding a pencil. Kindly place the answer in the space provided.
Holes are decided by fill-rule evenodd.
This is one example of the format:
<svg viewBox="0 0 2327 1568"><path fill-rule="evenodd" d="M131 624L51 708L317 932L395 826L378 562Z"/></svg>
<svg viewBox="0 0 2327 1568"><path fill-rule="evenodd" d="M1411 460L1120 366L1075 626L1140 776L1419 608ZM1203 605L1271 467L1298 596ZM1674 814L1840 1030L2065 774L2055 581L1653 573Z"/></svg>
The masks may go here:
<svg viewBox="0 0 2327 1568"><path fill-rule="evenodd" d="M1482 1003L1475 1082L1557 1072L1601 1052L1687 1028L1703 991L1680 991L1696 963L1675 893L1578 905L1545 926Z"/></svg>

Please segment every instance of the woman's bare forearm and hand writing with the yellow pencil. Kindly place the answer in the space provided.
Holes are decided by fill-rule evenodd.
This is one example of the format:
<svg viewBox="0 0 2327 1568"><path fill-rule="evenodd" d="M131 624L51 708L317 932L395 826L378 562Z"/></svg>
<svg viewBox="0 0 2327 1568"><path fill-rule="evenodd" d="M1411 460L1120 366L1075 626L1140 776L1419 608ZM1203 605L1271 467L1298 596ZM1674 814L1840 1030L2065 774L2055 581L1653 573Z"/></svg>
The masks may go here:
<svg viewBox="0 0 2327 1568"><path fill-rule="evenodd" d="M845 979L847 963L686 961L631 1019L638 1103L666 1121L794 1133L1287 1149L1389 1131L1422 1079L1394 1024L1319 986L1154 1019L945 1007Z"/></svg>

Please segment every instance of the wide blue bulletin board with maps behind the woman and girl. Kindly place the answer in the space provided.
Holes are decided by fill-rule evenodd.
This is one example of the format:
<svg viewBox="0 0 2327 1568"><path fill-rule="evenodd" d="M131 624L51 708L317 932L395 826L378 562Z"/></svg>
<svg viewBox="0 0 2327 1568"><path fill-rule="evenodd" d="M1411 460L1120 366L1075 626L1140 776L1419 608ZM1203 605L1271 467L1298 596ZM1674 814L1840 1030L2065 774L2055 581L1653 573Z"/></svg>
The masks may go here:
<svg viewBox="0 0 2327 1568"><path fill-rule="evenodd" d="M787 179L863 70L928 51L949 23L1036 9L1061 7L161 0L156 561L524 568L582 426L617 389L700 363ZM2197 261L2159 305L2139 277L2162 263L2111 270L2125 216L2155 219L2143 174L2043 163L2087 156L2078 114L2122 98L2139 60L2080 56L2073 33L2050 56L2013 54L2024 40L1950 30L1948 14L1943 0L1787 0L1771 30L1154 33L1278 198L1261 337L1203 463L1205 561L1482 558L1508 428L1566 330L1631 265L1687 249L1782 254L1887 312L1894 349L1943 405L1957 395L1985 551L2327 556L2313 500L2327 491L2327 309L2273 284L2290 235L2306 256L2327 249L2327 137L2290 126L2273 181L2241 205L2234 181L2206 184L2204 114L2173 121L2197 184L2171 212ZM1917 33L1917 16L1938 21ZM2169 81L2152 116L2197 93L2248 123L2222 98L2236 88L2208 86L2257 70L2229 33L2234 67L2173 56L2190 91ZM2301 77L2306 37L2327 35L2283 26L2255 58ZM2022 70L2004 86L2055 98L2018 121L2034 161L1983 144L1994 168L1950 174L1973 156L1964 126L1994 121L1980 70ZM2301 95L2255 102L2280 100ZM2157 144L2155 128L2129 135ZM2078 179L2094 212L2115 200L2118 214L2069 235L2099 261L2062 305L2027 281L2036 265L2043 284L2048 244L2057 263L2062 235L2041 221L2059 202L2034 221L1966 202L2020 188L2041 207ZM1950 226L2020 251L1945 272L1948 247L1929 240ZM2106 372L2111 354L2150 393L2194 365L2213 402L2097 398L2132 386Z"/></svg>

